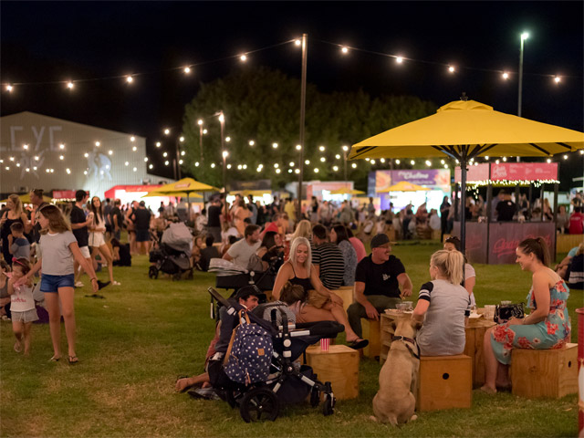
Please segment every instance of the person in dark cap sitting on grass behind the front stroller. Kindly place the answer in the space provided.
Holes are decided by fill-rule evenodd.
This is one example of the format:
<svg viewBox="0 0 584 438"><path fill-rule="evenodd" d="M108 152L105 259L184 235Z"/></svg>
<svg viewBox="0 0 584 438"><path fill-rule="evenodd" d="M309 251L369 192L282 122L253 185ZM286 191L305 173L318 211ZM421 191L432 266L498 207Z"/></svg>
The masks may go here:
<svg viewBox="0 0 584 438"><path fill-rule="evenodd" d="M259 291L255 287L242 287L237 291L234 300L248 311L257 307ZM195 399L216 399L213 383L221 379L223 369L223 358L229 347L229 341L234 328L239 323L237 315L229 315L225 308L219 309L219 322L215 326L215 336L211 341L204 362L204 372L198 376L181 376L177 379L174 390L185 392L195 387L200 389L189 391L189 395Z"/></svg>

